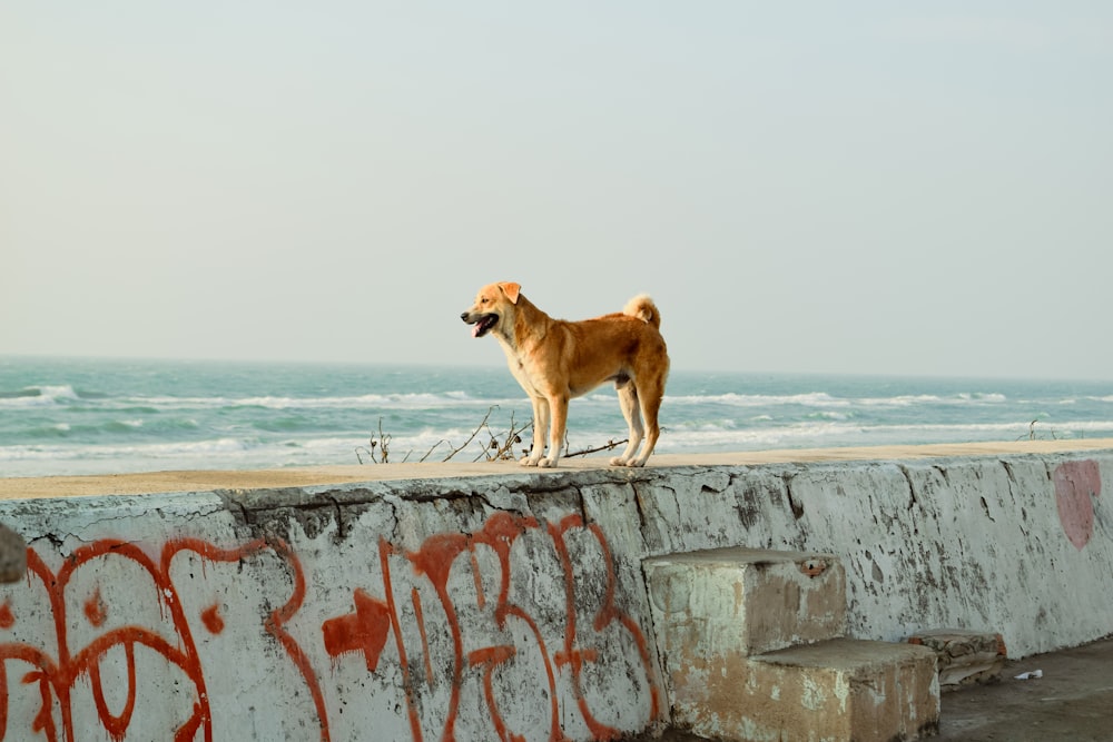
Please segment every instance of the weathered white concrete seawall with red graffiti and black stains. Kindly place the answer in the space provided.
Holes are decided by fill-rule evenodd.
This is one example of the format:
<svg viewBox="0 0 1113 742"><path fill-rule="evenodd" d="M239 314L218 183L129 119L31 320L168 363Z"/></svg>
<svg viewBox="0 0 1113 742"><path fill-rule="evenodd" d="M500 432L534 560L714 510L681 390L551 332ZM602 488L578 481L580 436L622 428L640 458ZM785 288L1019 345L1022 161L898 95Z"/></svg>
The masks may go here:
<svg viewBox="0 0 1113 742"><path fill-rule="evenodd" d="M641 561L709 547L838 555L860 639L1113 632L1111 451L501 471L0 502L0 739L614 739L668 715Z"/></svg>

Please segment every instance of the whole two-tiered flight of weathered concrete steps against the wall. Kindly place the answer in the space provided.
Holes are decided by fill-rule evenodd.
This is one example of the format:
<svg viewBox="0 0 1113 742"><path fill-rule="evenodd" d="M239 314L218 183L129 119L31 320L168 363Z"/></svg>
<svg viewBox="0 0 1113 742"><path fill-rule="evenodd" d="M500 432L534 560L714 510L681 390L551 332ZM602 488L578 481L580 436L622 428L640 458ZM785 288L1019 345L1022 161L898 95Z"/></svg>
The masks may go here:
<svg viewBox="0 0 1113 742"><path fill-rule="evenodd" d="M672 723L731 742L893 742L939 723L936 654L856 641L826 554L720 548L643 562Z"/></svg>

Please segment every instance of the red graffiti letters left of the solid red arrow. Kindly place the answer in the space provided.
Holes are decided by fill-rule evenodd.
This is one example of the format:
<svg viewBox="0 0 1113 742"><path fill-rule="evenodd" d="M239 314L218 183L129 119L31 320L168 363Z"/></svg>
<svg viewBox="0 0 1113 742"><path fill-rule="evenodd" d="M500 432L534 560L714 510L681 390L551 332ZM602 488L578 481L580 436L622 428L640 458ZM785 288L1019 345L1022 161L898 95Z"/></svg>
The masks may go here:
<svg viewBox="0 0 1113 742"><path fill-rule="evenodd" d="M30 666L14 680L38 689L41 699L38 712L30 720L31 732L50 741L76 740L73 695L83 682L86 687L82 690L87 689L87 693L91 694L96 715L105 731L114 740L125 739L136 709L140 683L136 656L142 647L161 656L167 666L174 669L175 675L191 683L193 702L185 719L177 725L174 739L194 740L200 732L203 739L211 740L211 699L206 692L195 632L204 627L211 634L219 634L225 623L217 603L206 606L196 622L190 621L171 578L170 565L183 552L194 552L213 563L237 563L264 550L285 558L296 582L289 600L262 617L260 629L286 650L289 661L303 673L318 709L324 711L319 685L305 653L284 629L301 607L305 592L301 565L285 544L258 540L238 548L220 550L204 541L181 538L168 542L158 558L152 558L136 544L101 540L73 551L57 572L51 571L33 548L29 548L26 588L35 595L30 600L17 601L17 596L11 594L13 588L6 591L9 594L0 604L0 630L11 632L20 622L30 621L36 625L24 633L38 635L41 641L0 643L0 739L9 739L9 732L10 739L21 739L21 730L13 729L21 720L13 718L9 703L9 675L13 666L18 666L13 661ZM126 563L122 568L108 565L119 560ZM92 575L91 578L81 578L86 573ZM121 575L125 583L108 584L96 576L98 573ZM137 585L144 584L148 590L136 590ZM73 586L77 588L71 590ZM151 606L136 605L134 597L109 600L109 592L131 596L146 592L151 596L159 617L150 620ZM37 605L36 598L45 600L46 605ZM137 614L147 620L136 621ZM43 622L49 624L52 636L36 631L41 630ZM117 711L109 709L106 683L101 677L102 666L107 664L105 661L109 656L118 657L115 652L121 652L126 663L126 670L118 673L124 675L126 693Z"/></svg>

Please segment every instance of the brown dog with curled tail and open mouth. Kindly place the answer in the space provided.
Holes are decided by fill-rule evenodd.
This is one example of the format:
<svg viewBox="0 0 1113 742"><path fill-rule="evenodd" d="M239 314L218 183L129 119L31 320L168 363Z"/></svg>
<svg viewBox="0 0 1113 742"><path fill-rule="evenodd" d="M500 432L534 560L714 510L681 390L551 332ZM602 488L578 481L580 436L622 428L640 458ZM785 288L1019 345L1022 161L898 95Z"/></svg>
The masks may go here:
<svg viewBox="0 0 1113 742"><path fill-rule="evenodd" d="M657 305L642 295L630 299L621 314L565 321L533 306L520 289L510 283L484 286L460 318L474 326L474 337L494 334L506 353L510 373L533 403L533 448L522 458L522 466L556 466L569 399L604 382L614 382L630 427L626 451L611 464L644 465L660 435L657 413L669 375ZM546 429L549 455L542 458ZM646 448L636 457L643 437Z"/></svg>

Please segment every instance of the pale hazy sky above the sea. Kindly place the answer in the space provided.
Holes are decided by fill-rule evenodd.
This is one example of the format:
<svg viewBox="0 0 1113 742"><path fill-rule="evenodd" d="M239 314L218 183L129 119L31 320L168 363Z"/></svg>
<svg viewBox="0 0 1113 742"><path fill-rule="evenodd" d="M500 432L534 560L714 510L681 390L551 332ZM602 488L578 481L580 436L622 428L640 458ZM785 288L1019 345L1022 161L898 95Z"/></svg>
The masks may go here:
<svg viewBox="0 0 1113 742"><path fill-rule="evenodd" d="M1113 3L0 0L0 355L1113 379Z"/></svg>

